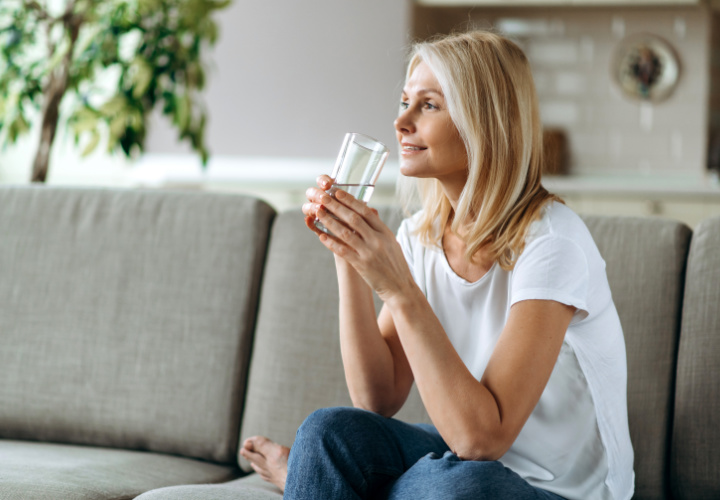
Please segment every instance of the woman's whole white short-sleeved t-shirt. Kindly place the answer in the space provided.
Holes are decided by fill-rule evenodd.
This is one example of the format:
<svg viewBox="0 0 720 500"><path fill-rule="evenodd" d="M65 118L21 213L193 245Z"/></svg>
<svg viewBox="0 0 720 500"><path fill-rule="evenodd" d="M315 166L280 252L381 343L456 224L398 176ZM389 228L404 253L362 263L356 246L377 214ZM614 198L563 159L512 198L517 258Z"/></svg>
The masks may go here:
<svg viewBox="0 0 720 500"><path fill-rule="evenodd" d="M480 380L510 306L554 300L577 310L540 401L500 459L531 485L570 500L629 499L633 451L627 422L627 363L605 261L582 220L561 203L545 207L512 271L459 277L439 247L423 246L403 221L398 241L463 362Z"/></svg>

